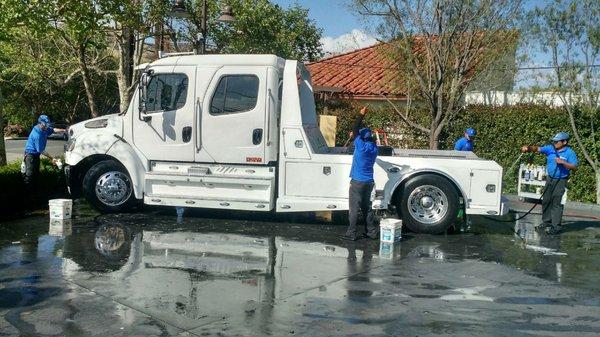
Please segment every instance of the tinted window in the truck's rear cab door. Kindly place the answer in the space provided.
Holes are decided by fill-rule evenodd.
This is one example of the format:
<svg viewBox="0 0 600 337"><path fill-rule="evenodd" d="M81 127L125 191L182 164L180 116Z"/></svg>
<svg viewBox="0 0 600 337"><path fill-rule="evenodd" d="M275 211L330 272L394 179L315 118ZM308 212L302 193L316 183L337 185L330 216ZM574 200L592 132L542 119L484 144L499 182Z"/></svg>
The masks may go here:
<svg viewBox="0 0 600 337"><path fill-rule="evenodd" d="M210 102L210 113L224 115L254 109L258 98L258 84L258 77L255 75L221 77Z"/></svg>

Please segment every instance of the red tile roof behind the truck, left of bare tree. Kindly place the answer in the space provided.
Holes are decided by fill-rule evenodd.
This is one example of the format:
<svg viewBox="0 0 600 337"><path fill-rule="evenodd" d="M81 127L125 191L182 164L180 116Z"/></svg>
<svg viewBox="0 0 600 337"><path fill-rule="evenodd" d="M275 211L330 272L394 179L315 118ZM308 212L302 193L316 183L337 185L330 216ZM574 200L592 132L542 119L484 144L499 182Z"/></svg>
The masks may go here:
<svg viewBox="0 0 600 337"><path fill-rule="evenodd" d="M308 63L313 86L338 88L338 94L349 98L382 99L382 94L403 98L389 81L394 68L381 47L376 44Z"/></svg>

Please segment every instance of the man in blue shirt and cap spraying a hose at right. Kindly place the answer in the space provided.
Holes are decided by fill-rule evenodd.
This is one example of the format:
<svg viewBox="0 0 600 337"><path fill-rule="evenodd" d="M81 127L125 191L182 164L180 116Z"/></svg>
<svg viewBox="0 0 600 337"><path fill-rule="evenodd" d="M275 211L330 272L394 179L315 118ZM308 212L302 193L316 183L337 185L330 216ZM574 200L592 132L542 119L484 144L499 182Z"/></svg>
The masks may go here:
<svg viewBox="0 0 600 337"><path fill-rule="evenodd" d="M542 195L542 224L549 234L558 234L562 230L563 195L567 188L567 179L571 171L579 164L575 151L568 146L569 134L559 132L552 138L552 144L546 146L523 146L522 152L537 152L546 155L546 185Z"/></svg>

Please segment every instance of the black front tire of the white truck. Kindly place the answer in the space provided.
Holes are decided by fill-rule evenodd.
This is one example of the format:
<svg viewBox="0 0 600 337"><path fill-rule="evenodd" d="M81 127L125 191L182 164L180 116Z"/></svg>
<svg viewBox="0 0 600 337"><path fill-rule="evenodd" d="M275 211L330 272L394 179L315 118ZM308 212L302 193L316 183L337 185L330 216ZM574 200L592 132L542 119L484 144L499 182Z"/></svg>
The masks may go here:
<svg viewBox="0 0 600 337"><path fill-rule="evenodd" d="M118 173L117 173L118 172ZM116 175L123 179L124 185L127 185L125 180L128 180L128 187L123 190L127 190L122 194L122 197L118 197L119 195L115 193L116 197L114 200L110 198L102 198L99 197L96 193L96 184L99 182L99 179L106 177L109 173L116 173ZM122 187L123 185L117 184L118 187ZM120 190L120 189L119 189ZM98 211L103 213L115 213L115 212L125 212L131 210L137 203L135 199L135 195L133 194L133 183L131 181L131 177L127 170L123 167L123 165L119 164L114 160L104 160L96 163L92 166L85 177L83 178L83 195L85 198L96 208ZM111 201L114 201L111 203Z"/></svg>

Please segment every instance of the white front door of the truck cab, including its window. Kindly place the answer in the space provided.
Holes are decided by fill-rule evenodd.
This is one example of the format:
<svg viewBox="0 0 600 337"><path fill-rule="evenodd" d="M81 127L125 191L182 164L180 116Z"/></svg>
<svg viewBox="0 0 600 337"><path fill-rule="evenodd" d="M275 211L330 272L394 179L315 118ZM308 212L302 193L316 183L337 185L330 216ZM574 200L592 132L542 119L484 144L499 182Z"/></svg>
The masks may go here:
<svg viewBox="0 0 600 337"><path fill-rule="evenodd" d="M191 162L196 66L153 70L146 90L146 114L136 111L133 116L133 142L148 160Z"/></svg>

